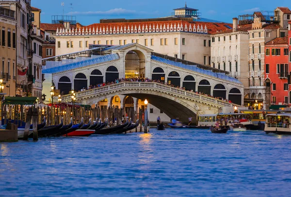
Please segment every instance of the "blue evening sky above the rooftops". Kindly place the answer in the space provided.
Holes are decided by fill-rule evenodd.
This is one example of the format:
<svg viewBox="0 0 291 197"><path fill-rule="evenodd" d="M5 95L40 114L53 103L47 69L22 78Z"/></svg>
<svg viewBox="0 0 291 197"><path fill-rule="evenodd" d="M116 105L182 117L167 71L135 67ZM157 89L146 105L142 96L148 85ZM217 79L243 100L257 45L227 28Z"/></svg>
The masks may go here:
<svg viewBox="0 0 291 197"><path fill-rule="evenodd" d="M63 14L62 2L65 15L77 16L82 25L99 23L102 18L170 16L174 8L185 5L184 0L32 0L32 6L42 10L41 22L51 23L52 15ZM291 0L187 0L187 7L198 9L201 17L232 22L233 17L254 11L273 11L276 7L291 9Z"/></svg>

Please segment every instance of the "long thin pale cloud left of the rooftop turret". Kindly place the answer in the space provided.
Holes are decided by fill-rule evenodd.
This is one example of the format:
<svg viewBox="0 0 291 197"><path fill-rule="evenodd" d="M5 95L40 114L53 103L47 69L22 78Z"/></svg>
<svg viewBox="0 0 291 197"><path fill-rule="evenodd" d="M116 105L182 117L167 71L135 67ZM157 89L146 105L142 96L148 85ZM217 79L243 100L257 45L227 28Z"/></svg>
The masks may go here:
<svg viewBox="0 0 291 197"><path fill-rule="evenodd" d="M140 13L140 12L139 12ZM132 15L138 14L135 10L126 10L123 8L114 8L108 11L87 11L87 12L69 12L67 15Z"/></svg>

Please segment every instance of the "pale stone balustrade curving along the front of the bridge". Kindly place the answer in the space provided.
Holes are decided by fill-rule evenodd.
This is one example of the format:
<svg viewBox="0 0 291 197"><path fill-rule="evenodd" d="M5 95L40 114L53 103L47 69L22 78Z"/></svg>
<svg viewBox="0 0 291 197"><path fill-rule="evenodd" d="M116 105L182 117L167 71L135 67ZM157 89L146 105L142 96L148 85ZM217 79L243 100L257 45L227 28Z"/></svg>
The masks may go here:
<svg viewBox="0 0 291 197"><path fill-rule="evenodd" d="M216 105L220 105L220 106L225 106L225 107L241 107L240 105L234 104L234 103L229 103L220 99L215 99L209 96L205 96L205 95L201 95L201 94L197 94L195 92L189 92L186 90L181 90L179 88L175 88L175 87L171 87L169 85L164 85L161 83L157 83L157 82L120 82L120 83L115 83L115 84L111 84L111 85L106 85L106 86L102 86L102 87L97 87L94 89L90 89L90 90L86 90L86 91L82 91L82 92L77 92L76 93L76 99L86 99L89 97L92 97L94 95L97 95L98 93L105 93L108 91L114 91L114 90L118 90L118 89L131 89L131 88L139 88L139 87L146 87L146 88L150 88L150 89L155 89L155 90L163 90L165 92L171 92L171 93L175 93L177 95L183 95L186 97L190 97L193 99L197 99L200 101L205 101L208 103L213 103ZM62 100L65 102L69 102L71 101L71 95L64 95L62 96Z"/></svg>

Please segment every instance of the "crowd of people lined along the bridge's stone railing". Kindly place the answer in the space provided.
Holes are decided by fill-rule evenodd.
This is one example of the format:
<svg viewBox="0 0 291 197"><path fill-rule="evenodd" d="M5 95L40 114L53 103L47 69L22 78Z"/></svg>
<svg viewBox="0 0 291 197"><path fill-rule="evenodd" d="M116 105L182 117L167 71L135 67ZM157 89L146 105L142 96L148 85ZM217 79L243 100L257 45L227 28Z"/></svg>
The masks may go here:
<svg viewBox="0 0 291 197"><path fill-rule="evenodd" d="M170 83L167 83L167 82L162 82L160 80L151 80L151 79L148 79L148 78L137 78L136 77L136 78L121 78L121 79L116 79L114 82L103 82L103 83L99 83L99 84L96 84L96 85L89 85L88 88L83 87L81 90L78 90L78 91L82 92L82 91L86 91L86 90L90 90L90 89L94 89L94 88L99 88L99 87L104 87L106 85L112 85L112 84L116 84L116 83L120 83L120 82L157 82L157 83L161 83L163 85L168 85L168 86L171 86L171 87L175 87L175 88L178 88L178 89L181 89L181 90L186 90L185 87L175 86L173 84L170 84ZM186 91L194 92L193 90L186 90ZM199 94L199 95L204 95L204 96L207 96L207 97L211 97L213 99L219 99L219 100L223 100L223 101L231 103L231 100L227 100L227 99L224 99L222 97L213 97L212 95L208 95L208 94L205 94L203 92L197 92L197 91L195 91L194 93Z"/></svg>

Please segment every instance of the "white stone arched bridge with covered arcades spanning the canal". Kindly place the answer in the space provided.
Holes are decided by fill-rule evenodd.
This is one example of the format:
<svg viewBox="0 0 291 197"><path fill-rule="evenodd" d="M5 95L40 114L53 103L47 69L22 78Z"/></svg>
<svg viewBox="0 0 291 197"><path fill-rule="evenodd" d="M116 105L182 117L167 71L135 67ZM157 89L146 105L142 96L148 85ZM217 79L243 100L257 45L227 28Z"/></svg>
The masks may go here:
<svg viewBox="0 0 291 197"><path fill-rule="evenodd" d="M180 117L182 121L199 114L219 113L225 106L242 104L243 85L235 78L164 59L152 55L152 52L136 43L108 46L100 49L99 55L92 55L90 58L76 58L66 64L47 62L43 73L52 74L53 84L64 93L62 100L65 102L71 101L68 95L70 90L77 91L77 101L86 105L108 100L110 106L114 96L118 96L123 108L125 100L132 97L134 111L138 111L139 99L147 99L170 118ZM160 80L161 83L119 82L79 91L90 85L135 77ZM185 87L185 90L163 83ZM216 97L232 102L215 99Z"/></svg>

